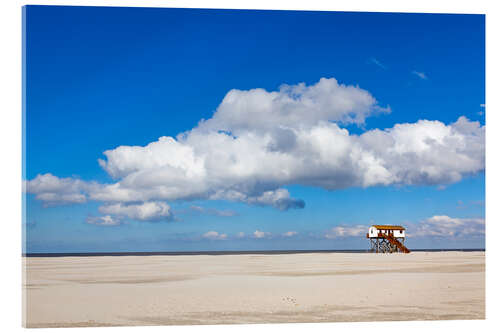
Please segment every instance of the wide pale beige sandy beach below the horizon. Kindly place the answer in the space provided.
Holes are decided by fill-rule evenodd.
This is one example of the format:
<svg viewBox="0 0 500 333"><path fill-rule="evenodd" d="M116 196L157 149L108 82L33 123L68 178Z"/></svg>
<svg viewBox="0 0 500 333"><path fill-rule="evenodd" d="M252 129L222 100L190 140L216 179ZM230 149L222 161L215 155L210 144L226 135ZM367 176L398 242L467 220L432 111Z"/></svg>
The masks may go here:
<svg viewBox="0 0 500 333"><path fill-rule="evenodd" d="M26 327L484 319L484 252L23 258Z"/></svg>

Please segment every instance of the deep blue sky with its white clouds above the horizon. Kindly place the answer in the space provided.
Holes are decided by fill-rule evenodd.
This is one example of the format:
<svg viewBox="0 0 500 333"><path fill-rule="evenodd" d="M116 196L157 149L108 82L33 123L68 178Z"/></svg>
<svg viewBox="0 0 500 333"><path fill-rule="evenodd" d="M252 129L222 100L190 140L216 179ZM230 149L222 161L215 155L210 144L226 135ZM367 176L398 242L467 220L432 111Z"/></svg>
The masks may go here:
<svg viewBox="0 0 500 333"><path fill-rule="evenodd" d="M410 248L484 247L484 16L50 6L28 6L24 14L26 251L363 249L361 230L372 223L407 226ZM305 90L296 86L301 82ZM299 97L266 109L276 117L253 117L271 92L297 93L280 90L283 84L300 90ZM233 89L237 103L224 99ZM345 111L339 99L354 106ZM308 109L310 101L321 103ZM290 103L298 120L287 118L296 112L287 109ZM311 120L323 112L324 119ZM346 121L347 114L366 117ZM447 136L421 120L439 122ZM372 139L357 146L364 133L397 124L410 124L401 129L406 134L415 130L415 147L444 141L426 152L394 148L400 155ZM236 162L206 167L208 176L197 182L180 176L198 170L182 160L182 149L198 151L201 160L226 152L215 143L199 152L212 142L210 131L230 134L220 134L224 140L255 134L272 141L282 138L275 129L283 126L311 142L321 126L330 126L329 135L347 129L346 155L328 155L335 150L320 160L322 147L340 147L326 140L311 151L280 151L294 165L285 168L286 180L280 170L231 174L242 167ZM202 139L176 138L191 130ZM385 133L394 147L411 146L406 136L397 141L396 130ZM177 141L162 143L162 136ZM237 147L258 155L255 140ZM149 155L141 155L145 148L127 155L115 150L154 142L161 149ZM373 180L357 170L356 147L388 175ZM315 166L310 172L298 166L304 156ZM346 156L354 159L348 166L329 164ZM151 168L149 158L162 162ZM423 173L429 165L435 176ZM52 178L40 178L47 174ZM168 178L162 194L150 194L151 185L137 180L155 175L160 183ZM133 186L126 177L135 179ZM129 184L135 197L104 192L118 183ZM165 195L173 184L180 190ZM189 184L203 190L193 194ZM266 191L279 200L264 198ZM109 195L102 199L103 193ZM156 209L151 219L137 213L147 203Z"/></svg>

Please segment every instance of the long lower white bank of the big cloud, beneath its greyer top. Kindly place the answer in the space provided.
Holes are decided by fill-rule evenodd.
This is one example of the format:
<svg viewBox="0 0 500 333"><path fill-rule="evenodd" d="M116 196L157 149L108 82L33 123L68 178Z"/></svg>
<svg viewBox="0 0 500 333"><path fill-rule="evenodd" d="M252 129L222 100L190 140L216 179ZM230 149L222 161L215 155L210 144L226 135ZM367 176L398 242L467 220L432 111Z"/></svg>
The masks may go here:
<svg viewBox="0 0 500 333"><path fill-rule="evenodd" d="M484 127L465 117L450 125L421 120L359 136L328 122L288 131L294 136L293 147L283 150L277 149L273 131L233 137L193 130L178 140L160 138L145 147L119 147L105 152L108 159L102 163L122 178L95 188L90 198L231 200L286 210L305 205L290 197L283 188L287 185L328 190L440 185L484 169ZM179 146L190 153L177 154Z"/></svg>

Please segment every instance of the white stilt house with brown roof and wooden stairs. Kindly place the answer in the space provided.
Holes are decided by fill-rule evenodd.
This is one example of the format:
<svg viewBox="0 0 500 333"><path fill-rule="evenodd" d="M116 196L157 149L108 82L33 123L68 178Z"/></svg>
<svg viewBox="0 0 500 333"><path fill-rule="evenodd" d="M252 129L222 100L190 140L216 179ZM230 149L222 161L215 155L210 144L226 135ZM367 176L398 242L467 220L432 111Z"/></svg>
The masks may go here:
<svg viewBox="0 0 500 333"><path fill-rule="evenodd" d="M405 230L400 225L372 225L366 234L366 238L370 240L371 252L410 253L404 245Z"/></svg>

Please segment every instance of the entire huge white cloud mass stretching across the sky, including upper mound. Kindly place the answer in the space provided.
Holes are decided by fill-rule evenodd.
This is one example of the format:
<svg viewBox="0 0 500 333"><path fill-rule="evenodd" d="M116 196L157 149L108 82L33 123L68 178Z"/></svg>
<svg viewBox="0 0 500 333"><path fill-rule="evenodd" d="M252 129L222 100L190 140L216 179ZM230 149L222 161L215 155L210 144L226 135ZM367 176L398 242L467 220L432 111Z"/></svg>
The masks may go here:
<svg viewBox="0 0 500 333"><path fill-rule="evenodd" d="M341 127L388 111L366 90L333 78L272 92L231 90L213 117L190 131L105 151L99 164L111 183L45 174L27 181L26 190L49 204L104 202L103 214L140 220L147 216L139 209L143 205L167 217L170 210L160 206L165 201L300 209L305 202L293 198L287 186L439 186L484 170L484 126L465 117L360 135Z"/></svg>

